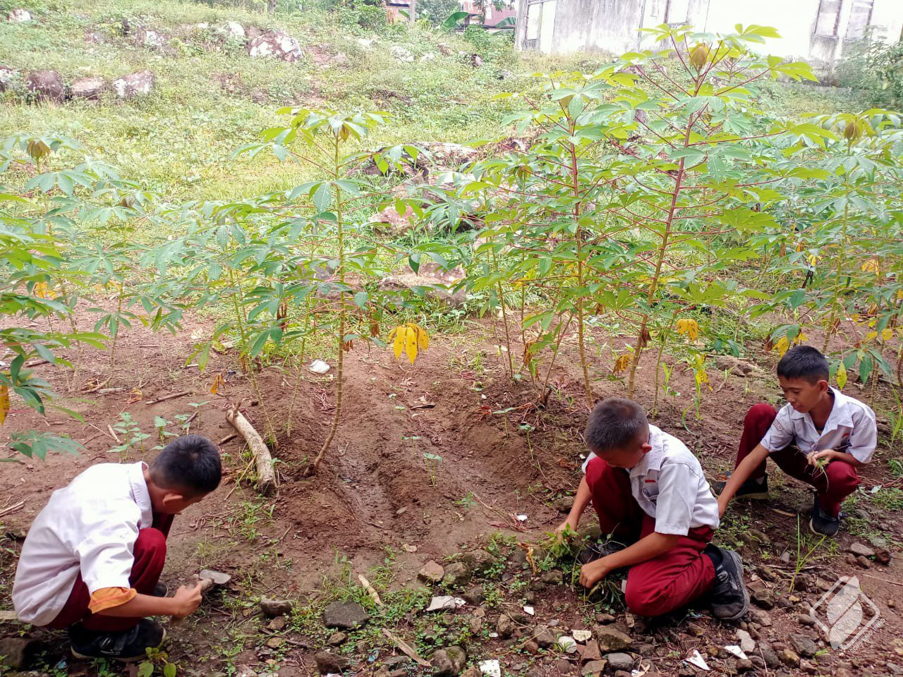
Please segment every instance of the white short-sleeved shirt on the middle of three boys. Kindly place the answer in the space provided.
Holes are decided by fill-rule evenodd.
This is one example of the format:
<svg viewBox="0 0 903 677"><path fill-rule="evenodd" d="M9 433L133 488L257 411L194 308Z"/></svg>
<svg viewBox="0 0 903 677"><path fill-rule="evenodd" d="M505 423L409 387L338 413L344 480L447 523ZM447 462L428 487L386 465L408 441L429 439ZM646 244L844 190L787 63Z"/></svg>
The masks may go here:
<svg viewBox="0 0 903 677"><path fill-rule="evenodd" d="M643 512L656 520L657 533L685 536L690 529L717 529L718 501L712 496L693 452L674 435L649 426L652 449L630 468L630 493ZM596 455L583 462L583 472Z"/></svg>

